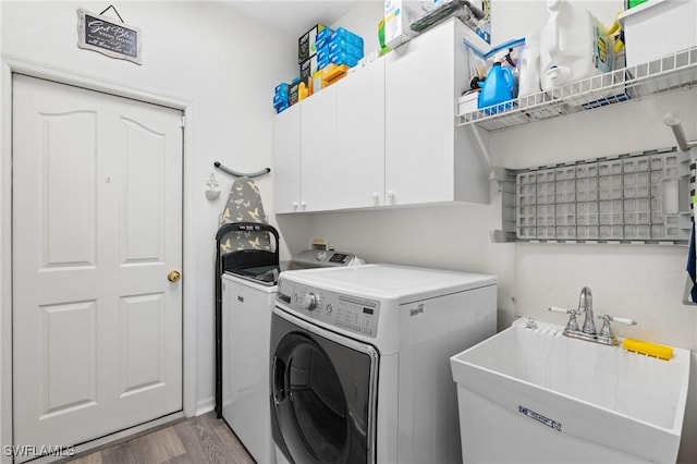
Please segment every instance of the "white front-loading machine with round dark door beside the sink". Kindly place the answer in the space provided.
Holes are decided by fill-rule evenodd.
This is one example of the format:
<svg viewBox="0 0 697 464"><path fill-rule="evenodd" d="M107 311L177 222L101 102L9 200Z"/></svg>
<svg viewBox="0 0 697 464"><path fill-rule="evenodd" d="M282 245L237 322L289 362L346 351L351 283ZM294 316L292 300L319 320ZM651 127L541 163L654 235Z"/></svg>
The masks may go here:
<svg viewBox="0 0 697 464"><path fill-rule="evenodd" d="M493 276L391 265L282 273L269 382L278 462L462 462L449 358L496 326Z"/></svg>

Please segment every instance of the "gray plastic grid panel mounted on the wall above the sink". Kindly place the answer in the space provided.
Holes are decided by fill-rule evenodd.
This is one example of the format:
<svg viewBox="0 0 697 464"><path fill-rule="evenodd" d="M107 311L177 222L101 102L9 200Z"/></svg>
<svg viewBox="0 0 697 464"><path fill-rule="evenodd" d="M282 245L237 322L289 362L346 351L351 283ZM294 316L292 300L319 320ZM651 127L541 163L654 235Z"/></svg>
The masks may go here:
<svg viewBox="0 0 697 464"><path fill-rule="evenodd" d="M686 243L689 156L627 155L516 172L516 239Z"/></svg>

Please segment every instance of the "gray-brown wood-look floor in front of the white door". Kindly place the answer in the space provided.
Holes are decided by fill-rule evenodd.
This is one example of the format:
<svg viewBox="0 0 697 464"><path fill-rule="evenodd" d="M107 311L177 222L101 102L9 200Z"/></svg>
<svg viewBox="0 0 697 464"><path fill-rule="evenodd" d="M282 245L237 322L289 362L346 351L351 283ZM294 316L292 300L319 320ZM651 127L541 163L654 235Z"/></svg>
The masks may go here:
<svg viewBox="0 0 697 464"><path fill-rule="evenodd" d="M71 464L254 464L247 450L215 413L68 461Z"/></svg>

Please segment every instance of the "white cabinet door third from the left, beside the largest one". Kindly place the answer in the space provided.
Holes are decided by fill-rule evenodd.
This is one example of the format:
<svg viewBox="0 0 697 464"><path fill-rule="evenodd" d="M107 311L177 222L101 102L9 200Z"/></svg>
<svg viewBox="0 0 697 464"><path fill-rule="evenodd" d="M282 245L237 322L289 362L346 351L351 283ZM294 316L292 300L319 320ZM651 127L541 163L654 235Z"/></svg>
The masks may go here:
<svg viewBox="0 0 697 464"><path fill-rule="evenodd" d="M384 205L384 59L337 86L337 156L332 185L338 208Z"/></svg>

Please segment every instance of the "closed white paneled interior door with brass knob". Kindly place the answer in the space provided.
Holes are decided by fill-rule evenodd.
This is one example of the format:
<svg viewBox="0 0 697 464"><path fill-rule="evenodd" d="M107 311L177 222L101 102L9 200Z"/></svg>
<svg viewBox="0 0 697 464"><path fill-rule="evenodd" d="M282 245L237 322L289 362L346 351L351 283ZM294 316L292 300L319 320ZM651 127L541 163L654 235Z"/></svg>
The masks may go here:
<svg viewBox="0 0 697 464"><path fill-rule="evenodd" d="M14 444L182 410L182 112L13 78Z"/></svg>

